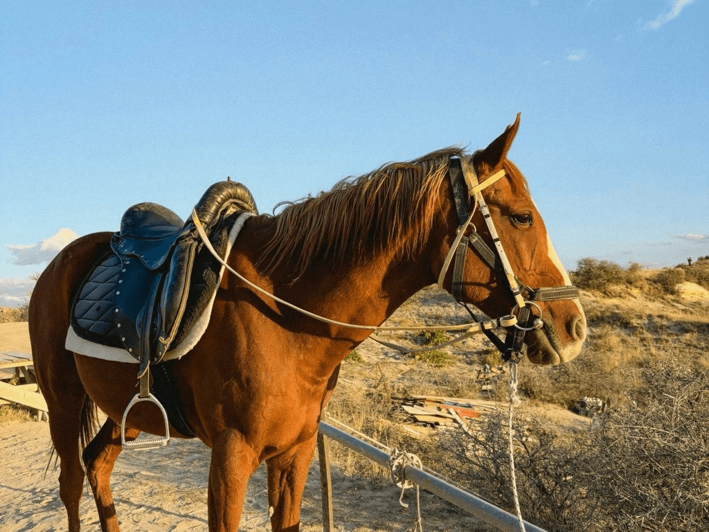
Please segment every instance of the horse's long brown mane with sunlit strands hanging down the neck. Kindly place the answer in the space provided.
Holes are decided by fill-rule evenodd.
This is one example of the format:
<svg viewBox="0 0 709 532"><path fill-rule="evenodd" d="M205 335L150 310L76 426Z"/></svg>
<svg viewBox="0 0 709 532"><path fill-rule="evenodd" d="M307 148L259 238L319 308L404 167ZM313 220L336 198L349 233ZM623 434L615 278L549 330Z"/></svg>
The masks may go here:
<svg viewBox="0 0 709 532"><path fill-rule="evenodd" d="M286 203L272 218L274 231L259 265L269 273L287 262L295 281L316 262L349 264L391 246L412 253L430 232L451 157L462 155L461 148L445 148L389 163L342 179L328 192Z"/></svg>

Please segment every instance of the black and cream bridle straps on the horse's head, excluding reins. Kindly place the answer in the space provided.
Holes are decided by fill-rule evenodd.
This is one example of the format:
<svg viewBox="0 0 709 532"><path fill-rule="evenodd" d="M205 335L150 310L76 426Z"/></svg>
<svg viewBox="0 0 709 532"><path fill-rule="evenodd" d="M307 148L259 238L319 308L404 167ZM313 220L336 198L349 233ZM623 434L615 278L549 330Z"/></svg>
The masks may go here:
<svg viewBox="0 0 709 532"><path fill-rule="evenodd" d="M495 224L490 216L490 211L481 193L482 189L489 187L498 179L505 177L506 171L500 170L480 184L472 164L473 157L474 155L452 159L448 171L453 191L453 202L458 219L458 232L443 263L438 277L438 286L442 288L447 270L452 260L454 260L451 294L456 301L467 309L474 320L479 321L479 318L477 318L464 301L462 301L464 287L463 275L465 272L465 259L467 257L468 247L472 248L493 272L505 277L514 300L514 306L510 314L513 316L516 314L517 323L515 323L513 327L507 328L508 333L504 342L492 331L484 330L484 333L496 348L500 350L504 360L518 360L524 345L525 333L535 328L545 326L542 320L542 309L535 301L578 299L579 289L571 285L533 289L518 279L510 266L510 261L507 258L505 249L496 231ZM472 209L470 210L468 210L469 199L473 200ZM494 250L487 245L472 223L473 215L478 206L492 237ZM466 235L465 233L468 227L472 228L472 232ZM533 308L537 309L539 313L538 316L532 313Z"/></svg>

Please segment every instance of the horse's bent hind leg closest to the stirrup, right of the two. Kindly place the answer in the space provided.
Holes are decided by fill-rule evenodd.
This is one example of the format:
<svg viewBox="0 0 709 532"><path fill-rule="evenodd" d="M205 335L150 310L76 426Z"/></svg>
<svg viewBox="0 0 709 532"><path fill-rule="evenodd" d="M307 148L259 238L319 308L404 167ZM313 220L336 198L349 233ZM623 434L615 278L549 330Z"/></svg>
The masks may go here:
<svg viewBox="0 0 709 532"><path fill-rule="evenodd" d="M140 431L135 429L125 431L127 440L137 438L138 434ZM116 458L120 453L121 425L108 418L96 437L84 449L86 477L88 477L89 485L94 492L96 508L99 510L99 521L101 521L101 531L103 532L118 532L118 517L116 516L116 508L113 506L110 480L113 464L116 463Z"/></svg>

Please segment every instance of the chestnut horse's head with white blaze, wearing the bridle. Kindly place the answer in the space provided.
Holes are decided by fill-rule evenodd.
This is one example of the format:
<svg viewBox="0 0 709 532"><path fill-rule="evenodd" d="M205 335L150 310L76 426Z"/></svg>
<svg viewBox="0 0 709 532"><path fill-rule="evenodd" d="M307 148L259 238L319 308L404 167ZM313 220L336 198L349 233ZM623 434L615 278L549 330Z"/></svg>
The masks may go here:
<svg viewBox="0 0 709 532"><path fill-rule="evenodd" d="M506 158L518 126L519 115L487 148L463 158L459 172L452 163L454 196L456 173L461 174L457 188L467 194L456 199L458 212L452 209L450 217L457 218L455 226L467 225L469 243L456 246L464 260L448 254L452 263L442 268L440 281L457 299L489 316L518 316L518 328L510 331L518 334L518 343L523 338L527 357L537 364L557 364L579 354L586 316L523 175ZM449 233L440 257L455 236ZM529 318L523 318L527 310L520 313L520 307L530 311Z"/></svg>

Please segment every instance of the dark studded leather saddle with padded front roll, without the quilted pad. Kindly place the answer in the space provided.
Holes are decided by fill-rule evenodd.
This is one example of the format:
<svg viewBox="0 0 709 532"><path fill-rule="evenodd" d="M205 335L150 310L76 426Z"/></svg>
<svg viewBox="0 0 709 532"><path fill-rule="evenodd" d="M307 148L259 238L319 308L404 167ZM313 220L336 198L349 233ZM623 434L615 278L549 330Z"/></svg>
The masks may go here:
<svg viewBox="0 0 709 532"><path fill-rule="evenodd" d="M209 187L195 211L207 235L235 211L257 214L248 189L232 181ZM175 338L199 248L191 219L182 223L177 214L151 203L130 207L121 231L111 238L111 249L121 260L114 322L123 347L140 361L139 375L162 359Z"/></svg>

